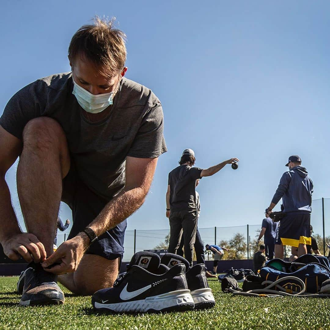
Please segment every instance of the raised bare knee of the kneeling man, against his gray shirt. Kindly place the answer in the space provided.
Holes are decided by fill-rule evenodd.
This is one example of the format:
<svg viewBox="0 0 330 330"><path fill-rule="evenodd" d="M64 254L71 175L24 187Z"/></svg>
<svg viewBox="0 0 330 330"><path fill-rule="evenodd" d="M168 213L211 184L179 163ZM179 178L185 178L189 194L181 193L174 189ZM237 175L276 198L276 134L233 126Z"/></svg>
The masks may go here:
<svg viewBox="0 0 330 330"><path fill-rule="evenodd" d="M38 117L30 120L23 129L23 147L34 150L60 146L66 137L61 125L49 117Z"/></svg>

